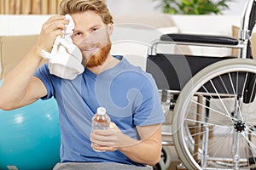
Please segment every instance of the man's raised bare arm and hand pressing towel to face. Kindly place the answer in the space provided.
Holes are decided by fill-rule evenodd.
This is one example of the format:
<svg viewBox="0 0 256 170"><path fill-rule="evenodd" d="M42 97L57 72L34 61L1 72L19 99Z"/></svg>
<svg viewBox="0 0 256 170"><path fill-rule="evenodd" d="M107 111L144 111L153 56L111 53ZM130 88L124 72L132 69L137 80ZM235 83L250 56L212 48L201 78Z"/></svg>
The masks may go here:
<svg viewBox="0 0 256 170"><path fill-rule="evenodd" d="M0 88L0 109L12 110L29 105L47 94L44 83L33 75L43 59L41 50L51 51L55 37L62 36L62 30L67 23L62 15L53 16L44 23L38 42L26 57L6 77L3 77Z"/></svg>

